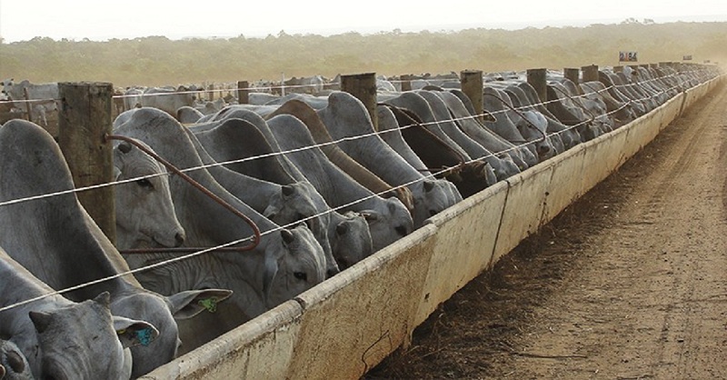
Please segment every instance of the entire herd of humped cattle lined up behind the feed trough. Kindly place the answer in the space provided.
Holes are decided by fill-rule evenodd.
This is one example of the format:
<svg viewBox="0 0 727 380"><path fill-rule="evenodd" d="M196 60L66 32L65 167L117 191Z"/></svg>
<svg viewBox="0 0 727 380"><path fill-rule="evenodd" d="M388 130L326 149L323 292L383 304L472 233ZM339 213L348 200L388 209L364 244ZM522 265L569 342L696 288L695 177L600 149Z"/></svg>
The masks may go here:
<svg viewBox="0 0 727 380"><path fill-rule="evenodd" d="M377 130L361 101L330 87L255 93L244 105L131 88L111 136L115 244L79 204L36 118L57 99L45 85L33 98L46 102L28 108L39 110L34 122L0 126L0 378L144 375L716 75L626 67L573 83L548 72L540 99L523 73L492 73L484 115L456 76L411 91L379 78ZM11 99L36 91L4 85ZM185 175L168 175L157 155ZM164 250L181 247L193 253Z"/></svg>

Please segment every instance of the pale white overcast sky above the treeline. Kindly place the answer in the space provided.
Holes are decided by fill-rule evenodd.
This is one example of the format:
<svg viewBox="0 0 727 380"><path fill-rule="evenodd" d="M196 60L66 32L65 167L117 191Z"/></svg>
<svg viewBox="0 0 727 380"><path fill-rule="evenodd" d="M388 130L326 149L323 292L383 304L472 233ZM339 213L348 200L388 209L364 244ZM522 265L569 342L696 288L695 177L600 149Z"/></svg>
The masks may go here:
<svg viewBox="0 0 727 380"><path fill-rule="evenodd" d="M439 6L432 7L431 4ZM342 5L345 5L343 7ZM364 6L365 5L365 6ZM585 5L591 5L588 8ZM165 35L264 37L362 34L469 27L584 26L626 18L656 23L727 21L727 0L0 0L0 36L5 42L35 36L103 41Z"/></svg>

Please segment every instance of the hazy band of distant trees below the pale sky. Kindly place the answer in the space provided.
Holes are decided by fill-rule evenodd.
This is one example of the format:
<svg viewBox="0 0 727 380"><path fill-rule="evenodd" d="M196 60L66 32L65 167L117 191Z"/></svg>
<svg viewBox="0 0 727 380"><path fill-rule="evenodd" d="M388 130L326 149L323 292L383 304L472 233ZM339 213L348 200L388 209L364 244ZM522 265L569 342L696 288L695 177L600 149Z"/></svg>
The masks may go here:
<svg viewBox="0 0 727 380"><path fill-rule="evenodd" d="M485 72L533 67L619 65L620 50L644 63L692 55L727 61L727 23L655 24L627 18L618 25L471 28L459 32L373 35L289 35L185 38L161 35L95 42L36 37L0 41L0 76L32 82L105 81L115 85L177 85L292 76L375 72L383 75Z"/></svg>

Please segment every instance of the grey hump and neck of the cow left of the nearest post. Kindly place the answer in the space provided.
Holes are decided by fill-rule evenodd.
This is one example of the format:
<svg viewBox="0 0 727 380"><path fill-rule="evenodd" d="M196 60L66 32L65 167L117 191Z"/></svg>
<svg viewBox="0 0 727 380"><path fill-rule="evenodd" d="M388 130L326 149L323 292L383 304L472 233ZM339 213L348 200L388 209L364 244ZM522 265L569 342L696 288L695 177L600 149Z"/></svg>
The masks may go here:
<svg viewBox="0 0 727 380"><path fill-rule="evenodd" d="M0 131L0 141L5 142L11 136L15 146L14 149L3 148L3 172L11 170L18 174L14 184L4 182L0 185L3 200L74 188L60 149L45 130L16 121L7 123ZM0 231L0 245L55 289L85 284L128 270L115 247L73 193L4 206L0 209L0 219L8 223L4 225L14 226ZM78 300L91 298L100 293L100 288L115 291L119 286L124 287L126 281L138 285L129 275L78 289L70 296Z"/></svg>

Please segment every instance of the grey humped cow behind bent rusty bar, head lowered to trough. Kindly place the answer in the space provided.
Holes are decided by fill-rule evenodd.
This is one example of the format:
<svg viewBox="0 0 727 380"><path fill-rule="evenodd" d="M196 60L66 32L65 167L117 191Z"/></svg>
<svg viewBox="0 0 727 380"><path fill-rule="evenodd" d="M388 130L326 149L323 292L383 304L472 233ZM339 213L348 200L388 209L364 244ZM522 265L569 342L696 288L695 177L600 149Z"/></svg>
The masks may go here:
<svg viewBox="0 0 727 380"><path fill-rule="evenodd" d="M234 291L215 315L205 315L204 326L184 323L184 349L194 348L230 328L260 315L325 279L321 245L306 225L284 229L231 195L210 173L200 168L190 134L184 125L163 111L142 107L115 128L116 135L144 141L179 169L196 167L188 175L228 205L250 217L264 235L254 250L245 253L212 252L138 274L144 286L161 294L199 287L224 287ZM184 226L184 246L214 247L243 241L253 235L250 226L217 204L178 175L170 178L174 207ZM164 255L127 255L132 267L156 263ZM194 341L193 341L194 340Z"/></svg>

